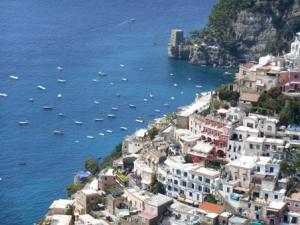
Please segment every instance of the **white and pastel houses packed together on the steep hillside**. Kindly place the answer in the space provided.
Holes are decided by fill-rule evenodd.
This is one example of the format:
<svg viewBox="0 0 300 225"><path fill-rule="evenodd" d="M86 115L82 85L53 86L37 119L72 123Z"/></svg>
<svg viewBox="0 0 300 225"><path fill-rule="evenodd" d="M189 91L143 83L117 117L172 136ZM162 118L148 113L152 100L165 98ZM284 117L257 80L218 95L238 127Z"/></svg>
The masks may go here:
<svg viewBox="0 0 300 225"><path fill-rule="evenodd" d="M77 175L84 188L54 201L43 224L299 225L300 175L282 162L297 159L300 127L244 110L272 87L296 98L299 55L297 34L285 57L241 65L239 106L209 112L214 93L201 93L126 137L121 158L91 182Z"/></svg>

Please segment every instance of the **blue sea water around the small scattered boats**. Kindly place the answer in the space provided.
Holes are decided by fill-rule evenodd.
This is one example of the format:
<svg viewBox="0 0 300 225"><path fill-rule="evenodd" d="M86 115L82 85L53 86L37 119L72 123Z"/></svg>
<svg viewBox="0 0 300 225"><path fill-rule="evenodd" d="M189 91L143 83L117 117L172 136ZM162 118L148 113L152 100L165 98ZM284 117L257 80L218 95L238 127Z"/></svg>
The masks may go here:
<svg viewBox="0 0 300 225"><path fill-rule="evenodd" d="M0 97L0 224L33 224L54 199L66 197L65 187L84 159L104 157L149 120L190 103L198 91L232 80L222 70L167 58L170 30L205 25L216 1L0 1L0 92L8 94ZM13 74L20 79L9 79ZM58 78L67 82L57 83ZM54 109L44 111L44 105ZM115 119L106 118L111 107L119 107ZM67 117L58 117L60 112ZM96 123L96 117L105 120ZM136 123L137 117L145 124ZM19 126L20 120L30 124ZM65 135L53 135L55 129ZM26 166L18 165L22 162Z"/></svg>

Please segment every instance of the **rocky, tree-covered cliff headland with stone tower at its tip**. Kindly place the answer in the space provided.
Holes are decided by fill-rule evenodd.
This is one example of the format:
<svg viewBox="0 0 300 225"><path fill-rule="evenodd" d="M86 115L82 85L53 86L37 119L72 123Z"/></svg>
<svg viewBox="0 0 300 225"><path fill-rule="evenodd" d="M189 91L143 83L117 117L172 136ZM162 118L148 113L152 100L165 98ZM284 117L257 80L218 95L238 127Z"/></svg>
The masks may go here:
<svg viewBox="0 0 300 225"><path fill-rule="evenodd" d="M257 61L263 54L282 54L300 32L299 2L220 0L204 29L191 32L179 43L169 43L169 57L237 66Z"/></svg>

